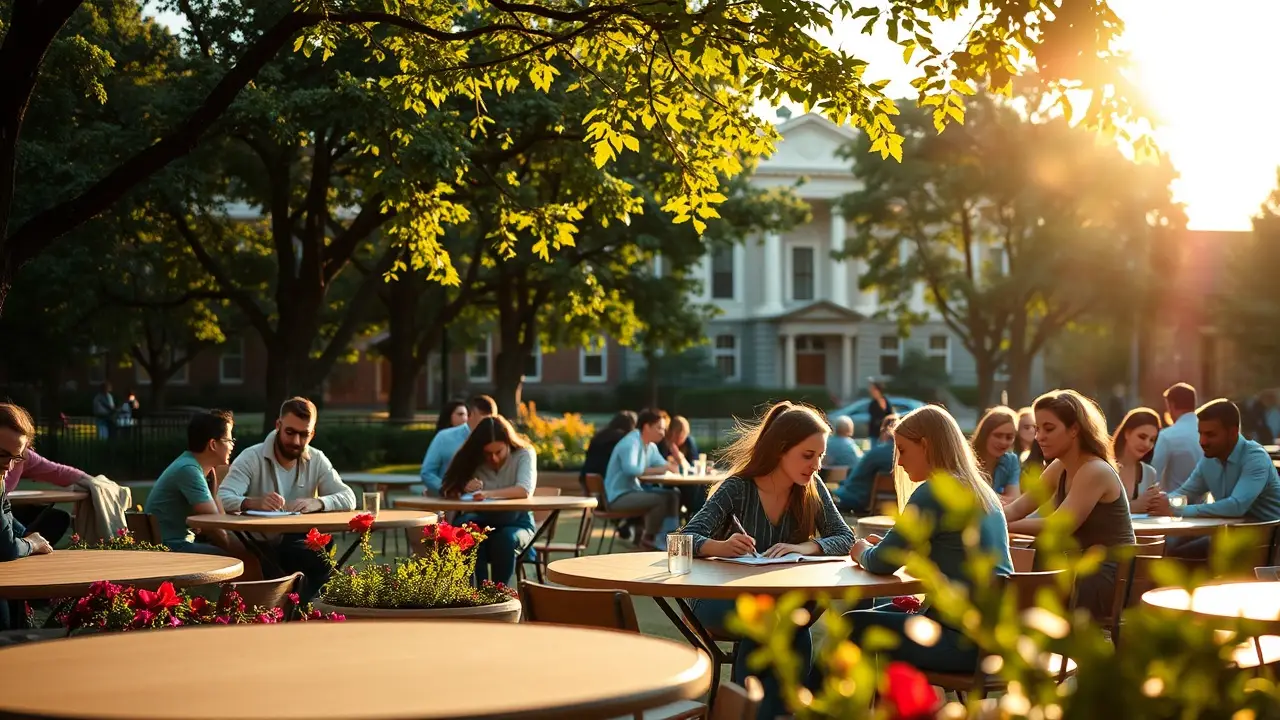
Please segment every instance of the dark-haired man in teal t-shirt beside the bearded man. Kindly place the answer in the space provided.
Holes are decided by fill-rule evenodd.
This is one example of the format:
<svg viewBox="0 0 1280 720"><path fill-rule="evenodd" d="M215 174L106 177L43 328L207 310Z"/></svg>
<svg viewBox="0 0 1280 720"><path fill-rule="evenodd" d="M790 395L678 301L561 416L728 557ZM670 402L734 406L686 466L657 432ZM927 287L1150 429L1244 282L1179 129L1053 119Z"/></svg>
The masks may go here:
<svg viewBox="0 0 1280 720"><path fill-rule="evenodd" d="M227 410L210 410L193 416L187 424L187 452L170 462L151 488L146 511L156 518L160 539L170 550L230 555L225 532L210 530L207 539L211 542L196 542L187 518L221 512L205 478L214 468L230 462L236 446L233 427L234 419Z"/></svg>

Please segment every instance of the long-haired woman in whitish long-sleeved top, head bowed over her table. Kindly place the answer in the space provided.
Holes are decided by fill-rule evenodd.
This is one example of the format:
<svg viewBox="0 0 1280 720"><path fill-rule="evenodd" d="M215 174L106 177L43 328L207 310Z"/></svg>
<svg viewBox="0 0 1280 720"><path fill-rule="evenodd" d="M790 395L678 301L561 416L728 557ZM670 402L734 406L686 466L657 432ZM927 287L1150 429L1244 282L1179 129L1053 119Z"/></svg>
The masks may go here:
<svg viewBox="0 0 1280 720"><path fill-rule="evenodd" d="M472 500L522 498L534 495L538 457L529 439L502 415L480 420L444 471L444 497L470 493ZM534 541L532 512L465 512L457 523L493 528L476 551L476 585L509 583L516 556Z"/></svg>

